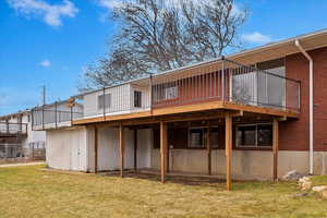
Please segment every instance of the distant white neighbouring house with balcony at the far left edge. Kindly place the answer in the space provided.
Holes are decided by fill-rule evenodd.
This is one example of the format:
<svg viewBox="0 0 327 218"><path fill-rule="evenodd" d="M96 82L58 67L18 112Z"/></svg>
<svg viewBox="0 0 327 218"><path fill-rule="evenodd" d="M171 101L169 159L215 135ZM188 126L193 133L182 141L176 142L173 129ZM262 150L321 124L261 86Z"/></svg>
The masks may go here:
<svg viewBox="0 0 327 218"><path fill-rule="evenodd" d="M0 117L0 161L45 158L45 131L33 131L31 110Z"/></svg>

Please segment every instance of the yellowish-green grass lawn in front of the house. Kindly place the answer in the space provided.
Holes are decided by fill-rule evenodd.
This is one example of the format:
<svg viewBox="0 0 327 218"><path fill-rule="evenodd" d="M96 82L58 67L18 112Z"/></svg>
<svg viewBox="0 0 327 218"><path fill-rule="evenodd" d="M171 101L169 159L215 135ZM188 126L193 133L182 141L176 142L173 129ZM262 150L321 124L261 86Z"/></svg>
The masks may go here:
<svg viewBox="0 0 327 218"><path fill-rule="evenodd" d="M327 184L327 177L315 179ZM295 183L181 184L0 168L0 217L327 217L327 201Z"/></svg>

